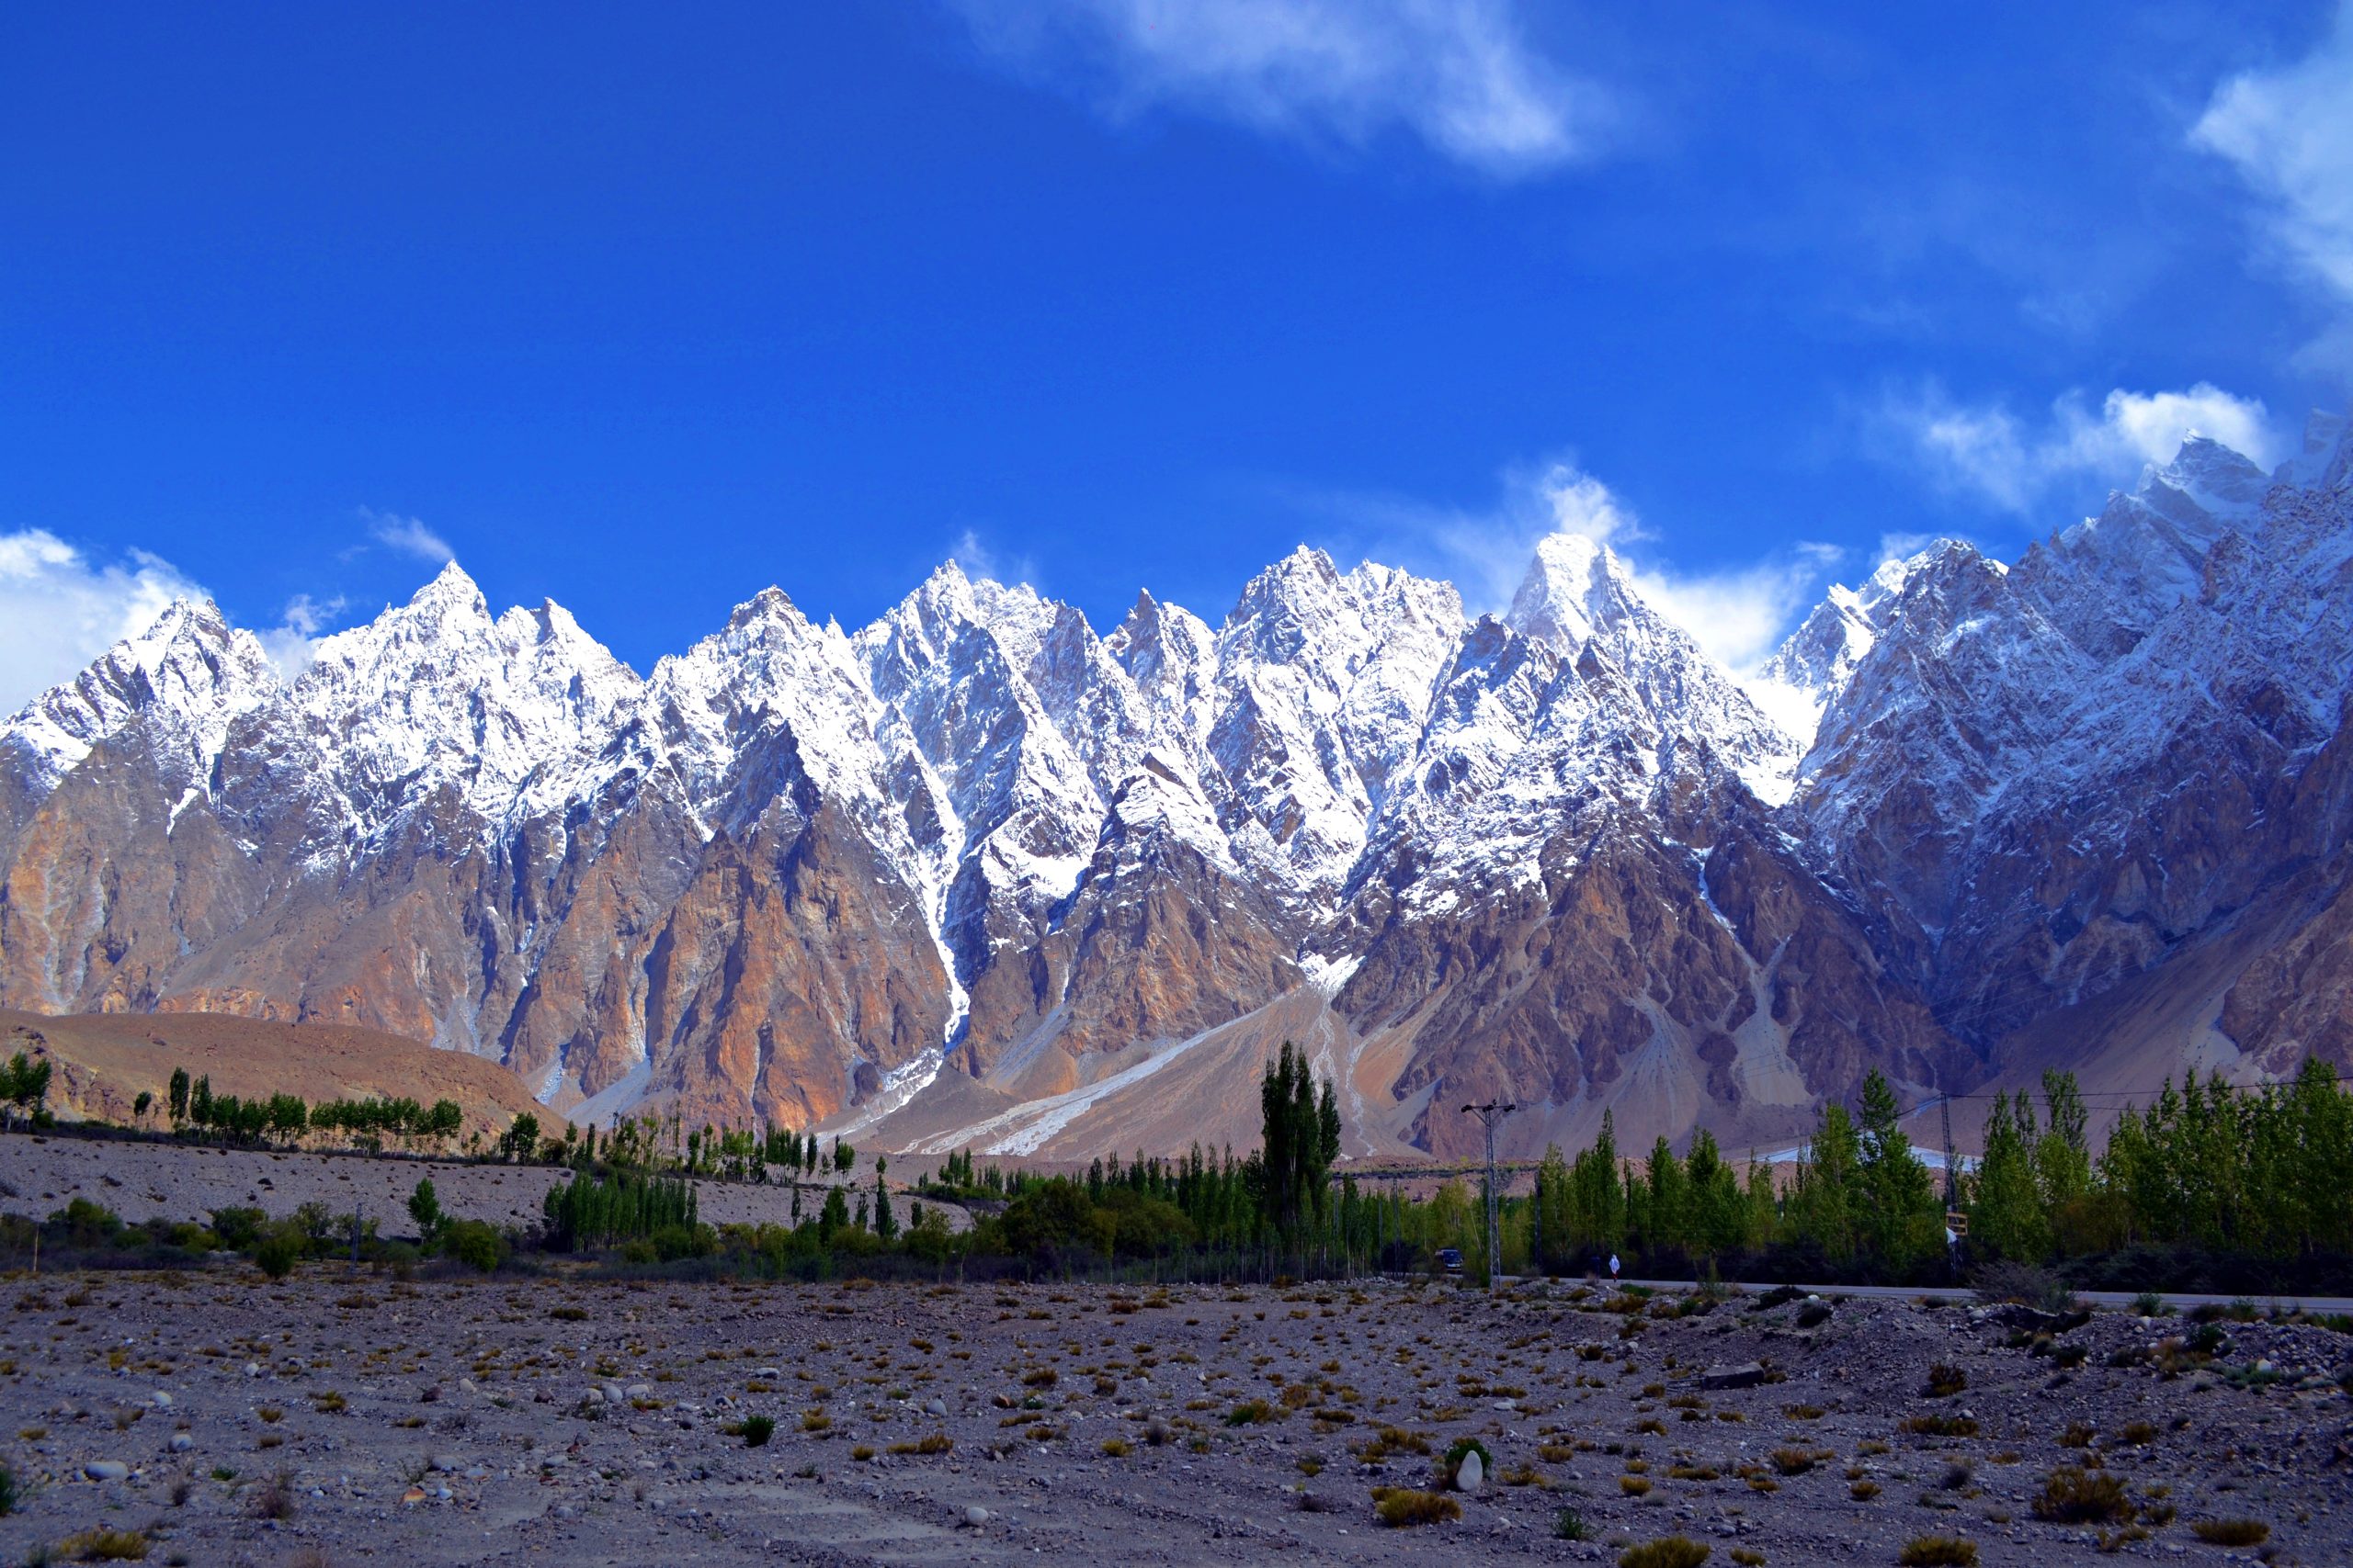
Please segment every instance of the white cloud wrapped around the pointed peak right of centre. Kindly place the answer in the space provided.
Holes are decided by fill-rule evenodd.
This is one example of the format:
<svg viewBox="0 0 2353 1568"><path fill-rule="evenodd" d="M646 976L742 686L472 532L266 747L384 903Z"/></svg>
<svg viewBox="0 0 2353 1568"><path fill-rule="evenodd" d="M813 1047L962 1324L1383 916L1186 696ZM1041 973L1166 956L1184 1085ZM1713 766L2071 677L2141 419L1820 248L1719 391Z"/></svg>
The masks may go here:
<svg viewBox="0 0 2353 1568"><path fill-rule="evenodd" d="M1506 470L1485 510L1360 494L1322 496L1315 510L1362 534L1374 552L1449 578L1473 614L1511 604L1537 541L1584 534L1609 545L1635 590L1737 675L1781 644L1842 559L1835 545L1800 541L1737 567L1675 567L1624 496L1565 458Z"/></svg>

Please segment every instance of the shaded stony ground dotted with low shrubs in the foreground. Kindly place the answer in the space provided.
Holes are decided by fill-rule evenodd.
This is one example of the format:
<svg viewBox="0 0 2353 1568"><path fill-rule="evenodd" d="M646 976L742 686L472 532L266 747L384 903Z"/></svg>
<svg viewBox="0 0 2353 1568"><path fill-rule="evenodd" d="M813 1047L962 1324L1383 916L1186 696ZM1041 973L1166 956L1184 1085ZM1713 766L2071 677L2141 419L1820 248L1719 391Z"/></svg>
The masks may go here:
<svg viewBox="0 0 2353 1568"><path fill-rule="evenodd" d="M1744 1566L1894 1563L1927 1535L1981 1563L2353 1549L2353 1338L2320 1326L2217 1324L2198 1349L2172 1342L2195 1324L2115 1312L1751 1295L1666 1316L1675 1298L1626 1312L1565 1284L341 1265L16 1276L0 1300L9 1563L108 1544L71 1542L89 1530L160 1563L414 1568L1617 1561L1668 1535ZM774 1434L753 1446L746 1418ZM1461 1516L1379 1523L1374 1490L1440 1488L1466 1436L1494 1465L1442 1490ZM2106 1516L2038 1516L2066 1467ZM2207 1544L2217 1521L2264 1540Z"/></svg>

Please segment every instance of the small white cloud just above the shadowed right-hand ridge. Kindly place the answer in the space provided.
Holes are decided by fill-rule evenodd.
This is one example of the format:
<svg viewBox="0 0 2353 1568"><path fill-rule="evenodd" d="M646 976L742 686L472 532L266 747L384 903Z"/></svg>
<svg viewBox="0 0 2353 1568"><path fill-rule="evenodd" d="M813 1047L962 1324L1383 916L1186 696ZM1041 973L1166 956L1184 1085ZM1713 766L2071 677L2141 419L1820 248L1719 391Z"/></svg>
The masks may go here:
<svg viewBox="0 0 2353 1568"><path fill-rule="evenodd" d="M2191 435L2231 447L2259 465L2278 456L2271 416L2252 397L2200 381L2184 393L2108 393L2092 409L2080 393L2028 423L2002 404L1965 404L1941 388L1889 397L1880 423L1906 461L1948 489L2009 512L2031 512L2054 484L2085 477L2120 484L2146 463L2169 463Z"/></svg>

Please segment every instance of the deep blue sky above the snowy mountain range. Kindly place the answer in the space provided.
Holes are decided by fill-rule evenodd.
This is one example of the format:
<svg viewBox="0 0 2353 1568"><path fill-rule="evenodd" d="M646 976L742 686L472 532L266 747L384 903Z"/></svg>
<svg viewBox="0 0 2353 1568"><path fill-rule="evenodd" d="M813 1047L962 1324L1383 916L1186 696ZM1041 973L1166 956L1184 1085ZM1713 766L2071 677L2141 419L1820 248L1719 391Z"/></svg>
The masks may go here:
<svg viewBox="0 0 2353 1568"><path fill-rule="evenodd" d="M2113 388L2346 395L2327 256L2193 139L2327 5L1475 5L1579 115L1513 167L1412 85L1155 94L1071 5L9 5L0 536L261 628L405 597L416 520L642 670L967 534L1099 628L1304 538L1447 569L1560 458L1661 576L2014 552L2132 480L2059 449Z"/></svg>

